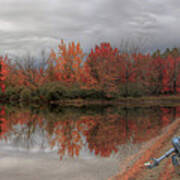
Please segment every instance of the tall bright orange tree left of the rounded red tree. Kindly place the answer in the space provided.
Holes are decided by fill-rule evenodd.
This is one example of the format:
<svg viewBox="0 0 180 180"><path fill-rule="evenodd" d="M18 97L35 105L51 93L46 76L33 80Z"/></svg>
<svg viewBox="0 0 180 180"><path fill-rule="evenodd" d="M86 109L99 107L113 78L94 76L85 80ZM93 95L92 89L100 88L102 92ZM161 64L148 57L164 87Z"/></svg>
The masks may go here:
<svg viewBox="0 0 180 180"><path fill-rule="evenodd" d="M85 54L83 53L80 43L71 42L67 45L61 40L58 45L58 52L51 51L48 61L49 67L47 72L58 80L67 84L78 83L82 75L82 61Z"/></svg>

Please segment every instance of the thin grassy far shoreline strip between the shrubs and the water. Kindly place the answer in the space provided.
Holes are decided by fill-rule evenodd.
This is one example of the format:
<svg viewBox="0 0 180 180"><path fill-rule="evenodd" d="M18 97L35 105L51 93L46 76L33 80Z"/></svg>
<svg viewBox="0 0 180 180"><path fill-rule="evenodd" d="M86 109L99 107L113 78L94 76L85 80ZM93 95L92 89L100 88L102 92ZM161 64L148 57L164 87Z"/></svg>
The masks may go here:
<svg viewBox="0 0 180 180"><path fill-rule="evenodd" d="M144 97L121 97L118 99L62 99L42 102L19 102L0 101L1 104L23 104L23 105L59 105L59 106L178 106L180 105L180 96L144 96Z"/></svg>

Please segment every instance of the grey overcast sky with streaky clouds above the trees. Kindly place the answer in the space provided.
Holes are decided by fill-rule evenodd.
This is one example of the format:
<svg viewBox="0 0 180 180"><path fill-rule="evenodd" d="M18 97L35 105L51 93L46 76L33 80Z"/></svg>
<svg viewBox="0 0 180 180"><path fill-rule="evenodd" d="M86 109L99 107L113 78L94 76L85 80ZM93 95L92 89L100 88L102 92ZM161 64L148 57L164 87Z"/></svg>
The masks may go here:
<svg viewBox="0 0 180 180"><path fill-rule="evenodd" d="M120 47L180 47L179 0L0 0L0 54L56 48L60 39L87 51L103 41Z"/></svg>

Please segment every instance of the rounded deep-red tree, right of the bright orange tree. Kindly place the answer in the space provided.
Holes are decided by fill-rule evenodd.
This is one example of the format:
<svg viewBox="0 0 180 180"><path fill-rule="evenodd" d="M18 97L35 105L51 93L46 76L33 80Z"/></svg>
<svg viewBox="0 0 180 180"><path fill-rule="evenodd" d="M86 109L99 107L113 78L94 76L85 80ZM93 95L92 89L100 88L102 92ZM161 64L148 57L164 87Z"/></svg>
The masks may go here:
<svg viewBox="0 0 180 180"><path fill-rule="evenodd" d="M117 74L118 57L118 49L113 49L110 43L101 43L100 46L91 50L84 67L87 69L85 76L91 79L93 87L104 91L114 89L114 83L119 78Z"/></svg>

